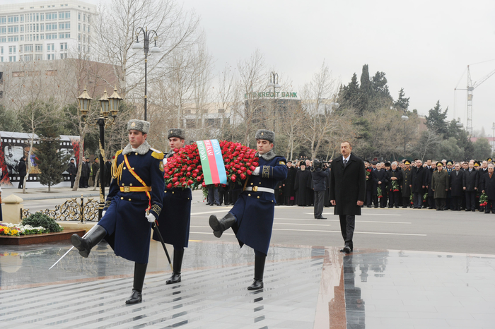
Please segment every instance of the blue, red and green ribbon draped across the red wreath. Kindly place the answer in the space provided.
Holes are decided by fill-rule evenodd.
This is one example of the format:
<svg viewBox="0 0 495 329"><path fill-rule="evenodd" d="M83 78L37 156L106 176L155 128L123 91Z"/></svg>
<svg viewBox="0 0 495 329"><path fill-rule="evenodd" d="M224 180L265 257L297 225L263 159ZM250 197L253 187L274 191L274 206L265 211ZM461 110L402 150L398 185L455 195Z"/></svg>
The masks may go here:
<svg viewBox="0 0 495 329"><path fill-rule="evenodd" d="M227 184L227 174L219 141L216 139L198 140L196 144L203 167L204 184Z"/></svg>

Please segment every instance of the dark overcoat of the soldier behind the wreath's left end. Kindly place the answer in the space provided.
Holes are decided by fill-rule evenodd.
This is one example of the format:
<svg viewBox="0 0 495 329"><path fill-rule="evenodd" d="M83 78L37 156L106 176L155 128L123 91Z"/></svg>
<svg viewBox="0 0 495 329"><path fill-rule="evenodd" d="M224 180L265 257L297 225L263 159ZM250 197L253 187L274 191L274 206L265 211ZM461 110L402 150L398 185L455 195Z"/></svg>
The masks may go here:
<svg viewBox="0 0 495 329"><path fill-rule="evenodd" d="M165 244L187 248L191 225L191 202L191 189L177 187L165 189L163 211L158 217L158 229ZM160 241L156 232L153 232L153 240Z"/></svg>

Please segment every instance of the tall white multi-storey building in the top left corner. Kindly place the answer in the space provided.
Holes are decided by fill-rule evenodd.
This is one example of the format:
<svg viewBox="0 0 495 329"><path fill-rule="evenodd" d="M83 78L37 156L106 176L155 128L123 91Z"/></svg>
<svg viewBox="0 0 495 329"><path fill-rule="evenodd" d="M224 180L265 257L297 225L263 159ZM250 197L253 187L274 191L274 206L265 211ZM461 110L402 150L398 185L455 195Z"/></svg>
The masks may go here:
<svg viewBox="0 0 495 329"><path fill-rule="evenodd" d="M91 51L96 6L77 0L0 6L0 62L64 59Z"/></svg>

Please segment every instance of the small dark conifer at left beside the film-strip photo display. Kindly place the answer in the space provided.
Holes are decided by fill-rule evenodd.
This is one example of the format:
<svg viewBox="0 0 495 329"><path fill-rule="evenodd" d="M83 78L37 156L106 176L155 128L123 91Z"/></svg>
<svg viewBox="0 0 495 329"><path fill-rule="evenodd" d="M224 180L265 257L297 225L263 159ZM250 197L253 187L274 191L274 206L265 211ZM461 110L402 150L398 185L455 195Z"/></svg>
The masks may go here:
<svg viewBox="0 0 495 329"><path fill-rule="evenodd" d="M40 184L50 187L59 184L62 172L67 169L70 155L59 152L60 136L59 126L44 127L40 131L40 144L35 150L35 162L40 169Z"/></svg>

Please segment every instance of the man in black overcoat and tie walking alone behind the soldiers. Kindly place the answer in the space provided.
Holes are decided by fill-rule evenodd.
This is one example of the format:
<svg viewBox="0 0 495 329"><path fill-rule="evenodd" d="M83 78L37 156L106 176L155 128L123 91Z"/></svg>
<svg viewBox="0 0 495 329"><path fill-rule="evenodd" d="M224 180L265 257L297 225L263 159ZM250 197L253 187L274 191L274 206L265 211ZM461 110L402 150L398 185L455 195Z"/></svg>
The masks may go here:
<svg viewBox="0 0 495 329"><path fill-rule="evenodd" d="M339 215L340 230L345 241L340 251L344 253L354 249L354 223L356 215L361 215L366 194L364 162L351 150L351 143L346 141L340 144L342 156L332 160L330 171L330 203L334 205L334 215Z"/></svg>

